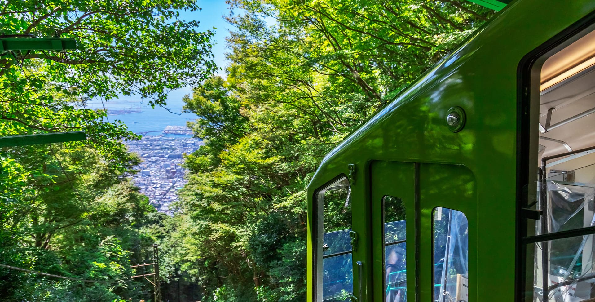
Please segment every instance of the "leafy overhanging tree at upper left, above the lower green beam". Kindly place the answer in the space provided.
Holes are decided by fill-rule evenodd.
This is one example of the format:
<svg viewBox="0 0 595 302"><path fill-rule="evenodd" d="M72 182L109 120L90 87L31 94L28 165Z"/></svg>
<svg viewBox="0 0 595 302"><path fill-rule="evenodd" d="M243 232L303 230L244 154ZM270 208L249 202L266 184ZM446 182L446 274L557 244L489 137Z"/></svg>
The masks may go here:
<svg viewBox="0 0 595 302"><path fill-rule="evenodd" d="M118 140L138 137L85 101L138 95L165 106L169 91L216 69L213 33L180 20L180 10L200 8L184 0L8 1L0 12L3 32L76 38L78 49L0 54L0 133L86 130L102 155L122 155Z"/></svg>

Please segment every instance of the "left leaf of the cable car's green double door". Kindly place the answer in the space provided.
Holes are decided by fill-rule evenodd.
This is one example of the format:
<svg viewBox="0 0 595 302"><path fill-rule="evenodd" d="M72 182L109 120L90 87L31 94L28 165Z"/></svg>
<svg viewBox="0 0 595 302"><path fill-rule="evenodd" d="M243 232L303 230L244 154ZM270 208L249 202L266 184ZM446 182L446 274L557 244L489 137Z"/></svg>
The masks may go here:
<svg viewBox="0 0 595 302"><path fill-rule="evenodd" d="M373 161L370 175L374 301L415 301L415 164Z"/></svg>

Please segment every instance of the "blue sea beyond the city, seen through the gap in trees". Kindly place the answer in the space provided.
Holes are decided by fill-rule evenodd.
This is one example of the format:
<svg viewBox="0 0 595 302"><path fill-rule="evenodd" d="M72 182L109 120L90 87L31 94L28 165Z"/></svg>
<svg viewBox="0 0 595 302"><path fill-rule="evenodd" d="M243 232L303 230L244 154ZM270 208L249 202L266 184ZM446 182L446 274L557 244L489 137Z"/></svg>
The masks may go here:
<svg viewBox="0 0 595 302"><path fill-rule="evenodd" d="M190 89L179 89L168 94L167 105L152 108L147 100L138 97L120 97L102 103L99 99L87 101L87 108L104 108L108 111L109 122L121 120L129 130L143 136L162 135L167 126L186 126L187 122L197 119L196 114L183 113L184 95L190 94ZM166 109L167 108L167 109ZM189 137L187 135L168 134L165 136Z"/></svg>

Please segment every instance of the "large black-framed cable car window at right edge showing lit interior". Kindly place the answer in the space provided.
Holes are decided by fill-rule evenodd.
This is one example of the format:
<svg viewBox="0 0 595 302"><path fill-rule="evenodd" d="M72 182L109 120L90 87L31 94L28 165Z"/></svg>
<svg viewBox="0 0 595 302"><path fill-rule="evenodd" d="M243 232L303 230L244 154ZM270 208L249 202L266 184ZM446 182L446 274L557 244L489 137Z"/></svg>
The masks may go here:
<svg viewBox="0 0 595 302"><path fill-rule="evenodd" d="M524 301L595 297L595 31L564 43L531 78L524 117Z"/></svg>

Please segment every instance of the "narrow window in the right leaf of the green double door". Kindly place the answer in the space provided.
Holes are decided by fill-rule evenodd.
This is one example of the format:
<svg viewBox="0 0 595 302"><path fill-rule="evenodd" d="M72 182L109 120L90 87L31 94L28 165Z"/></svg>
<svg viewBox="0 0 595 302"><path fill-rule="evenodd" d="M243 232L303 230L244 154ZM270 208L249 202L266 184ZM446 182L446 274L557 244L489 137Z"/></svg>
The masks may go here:
<svg viewBox="0 0 595 302"><path fill-rule="evenodd" d="M434 208L434 301L469 301L469 223L461 211Z"/></svg>

